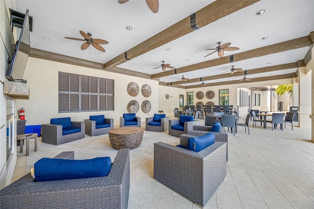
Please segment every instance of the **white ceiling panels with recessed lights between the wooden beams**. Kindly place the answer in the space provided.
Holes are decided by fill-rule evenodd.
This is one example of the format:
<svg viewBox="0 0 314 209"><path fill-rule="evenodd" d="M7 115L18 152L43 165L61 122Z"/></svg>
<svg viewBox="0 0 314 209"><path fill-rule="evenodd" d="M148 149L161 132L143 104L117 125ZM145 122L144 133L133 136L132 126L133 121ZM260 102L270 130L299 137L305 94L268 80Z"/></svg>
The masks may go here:
<svg viewBox="0 0 314 209"><path fill-rule="evenodd" d="M172 26L192 13L210 4L211 0L159 0L159 10L151 12L145 0L130 0L119 4L118 0L17 0L17 10L33 16L31 48L59 53L98 63L106 63L121 53L140 44L156 33ZM255 15L261 9L266 12ZM197 17L196 17L197 18ZM126 30L131 26L133 30ZM93 47L80 50L82 41L64 37L82 38L79 30L92 33L93 38L109 42L102 45L106 52L96 54ZM188 33L174 41L137 56L117 67L149 75L162 72L153 70L161 61L175 68L219 58L217 53L204 56L215 48L217 42L231 42L238 51L225 52L225 56L246 52L264 46L308 36L314 31L314 0L261 0L221 18L208 26ZM269 36L262 40L263 36ZM45 41L49 37L51 41ZM171 51L166 51L170 48ZM207 69L184 73L185 78L200 78L228 73L231 66L248 70L248 78L294 73L297 69L250 75L250 69L269 67L302 60L309 47L247 59ZM190 59L190 61L186 61ZM136 63L136 64L132 64ZM270 64L269 64L270 63ZM272 74L272 75L271 75ZM162 77L159 81L178 81L182 75ZM205 81L220 82L240 80L240 77ZM201 82L186 83L183 86Z"/></svg>

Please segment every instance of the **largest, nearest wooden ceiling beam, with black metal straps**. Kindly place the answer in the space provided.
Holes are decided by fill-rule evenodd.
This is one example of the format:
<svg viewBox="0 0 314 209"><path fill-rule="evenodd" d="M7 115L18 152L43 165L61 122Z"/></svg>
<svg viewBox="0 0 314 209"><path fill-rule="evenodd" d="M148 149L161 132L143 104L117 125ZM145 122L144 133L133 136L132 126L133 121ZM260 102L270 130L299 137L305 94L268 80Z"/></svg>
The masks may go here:
<svg viewBox="0 0 314 209"><path fill-rule="evenodd" d="M200 28L207 26L210 23L213 23L258 1L259 0L216 0L196 12L196 25ZM154 50L157 47L169 43L190 32L193 32L193 29L191 28L190 16L188 16L178 23L164 29L151 38L138 44L137 46L128 50L126 53L123 52L122 54L109 60L104 64L104 69L109 70L128 61L129 59Z"/></svg>

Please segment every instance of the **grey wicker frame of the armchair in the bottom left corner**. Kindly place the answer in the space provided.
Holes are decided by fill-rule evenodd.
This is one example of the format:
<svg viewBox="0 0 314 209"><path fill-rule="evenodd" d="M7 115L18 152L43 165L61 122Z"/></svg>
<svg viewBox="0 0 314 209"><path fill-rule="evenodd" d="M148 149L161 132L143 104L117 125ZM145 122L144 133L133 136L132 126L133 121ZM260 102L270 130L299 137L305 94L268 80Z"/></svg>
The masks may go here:
<svg viewBox="0 0 314 209"><path fill-rule="evenodd" d="M74 152L55 158L74 159ZM0 190L0 208L127 209L130 150L120 149L105 177L33 182L30 173Z"/></svg>

